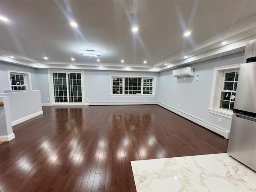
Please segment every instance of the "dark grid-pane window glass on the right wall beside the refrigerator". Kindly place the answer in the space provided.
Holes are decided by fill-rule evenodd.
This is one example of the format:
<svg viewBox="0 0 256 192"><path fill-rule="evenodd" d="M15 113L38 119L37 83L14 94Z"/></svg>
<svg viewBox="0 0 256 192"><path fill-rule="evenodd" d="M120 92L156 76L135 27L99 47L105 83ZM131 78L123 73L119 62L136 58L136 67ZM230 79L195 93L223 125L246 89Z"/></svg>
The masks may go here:
<svg viewBox="0 0 256 192"><path fill-rule="evenodd" d="M239 72L226 72L220 92L220 108L226 110L234 109L234 102L236 98L236 86Z"/></svg>

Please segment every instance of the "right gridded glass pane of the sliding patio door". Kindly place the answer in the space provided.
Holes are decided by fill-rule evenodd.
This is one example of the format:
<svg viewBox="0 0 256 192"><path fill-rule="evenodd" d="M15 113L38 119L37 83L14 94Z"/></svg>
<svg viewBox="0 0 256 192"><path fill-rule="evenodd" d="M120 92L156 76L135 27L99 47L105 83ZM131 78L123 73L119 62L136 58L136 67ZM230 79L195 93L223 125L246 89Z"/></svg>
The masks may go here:
<svg viewBox="0 0 256 192"><path fill-rule="evenodd" d="M80 73L68 73L69 102L82 102L82 80Z"/></svg>

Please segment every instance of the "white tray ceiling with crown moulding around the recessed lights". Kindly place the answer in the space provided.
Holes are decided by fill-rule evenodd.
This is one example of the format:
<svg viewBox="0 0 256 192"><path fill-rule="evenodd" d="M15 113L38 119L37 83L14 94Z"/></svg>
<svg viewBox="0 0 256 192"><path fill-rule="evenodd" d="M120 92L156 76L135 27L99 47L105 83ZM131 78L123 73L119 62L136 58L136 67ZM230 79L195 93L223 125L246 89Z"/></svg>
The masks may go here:
<svg viewBox="0 0 256 192"><path fill-rule="evenodd" d="M0 59L35 68L162 71L244 51L256 38L254 0L1 0L0 13ZM86 49L102 52L100 62L78 54Z"/></svg>

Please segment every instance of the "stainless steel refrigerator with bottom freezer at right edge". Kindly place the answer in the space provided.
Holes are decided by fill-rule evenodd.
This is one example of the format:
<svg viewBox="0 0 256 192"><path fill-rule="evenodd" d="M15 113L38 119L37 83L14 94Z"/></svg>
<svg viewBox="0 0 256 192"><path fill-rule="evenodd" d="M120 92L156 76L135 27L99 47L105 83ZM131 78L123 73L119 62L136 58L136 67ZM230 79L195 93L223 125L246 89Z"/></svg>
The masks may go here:
<svg viewBox="0 0 256 192"><path fill-rule="evenodd" d="M256 62L240 65L228 154L256 171Z"/></svg>

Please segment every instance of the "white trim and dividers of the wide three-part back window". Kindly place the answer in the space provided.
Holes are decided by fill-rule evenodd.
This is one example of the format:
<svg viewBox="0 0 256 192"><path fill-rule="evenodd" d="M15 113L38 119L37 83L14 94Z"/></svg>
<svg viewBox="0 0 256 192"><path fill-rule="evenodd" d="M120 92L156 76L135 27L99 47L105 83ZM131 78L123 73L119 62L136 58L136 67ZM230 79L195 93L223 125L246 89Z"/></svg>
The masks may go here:
<svg viewBox="0 0 256 192"><path fill-rule="evenodd" d="M127 78L127 77L132 77L132 78L153 78L153 90L152 94L140 94L140 95L125 95L123 94L112 94L112 78ZM143 82L142 82L143 83ZM143 87L143 86L142 86ZM110 97L155 97L156 96L156 76L133 76L133 75L110 75Z"/></svg>

